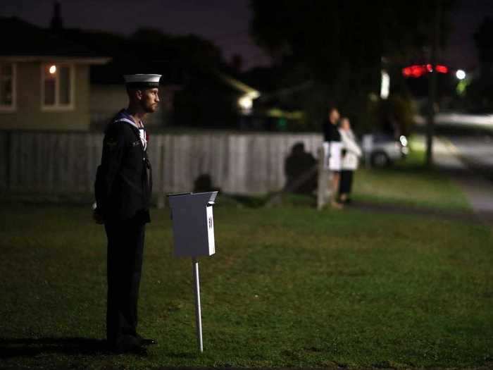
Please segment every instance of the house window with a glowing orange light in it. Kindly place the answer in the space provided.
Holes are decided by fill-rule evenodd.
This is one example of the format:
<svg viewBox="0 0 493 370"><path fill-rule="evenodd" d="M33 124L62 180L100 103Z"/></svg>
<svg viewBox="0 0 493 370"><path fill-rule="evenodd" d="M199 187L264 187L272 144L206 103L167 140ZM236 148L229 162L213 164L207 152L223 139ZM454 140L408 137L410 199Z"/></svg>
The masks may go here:
<svg viewBox="0 0 493 370"><path fill-rule="evenodd" d="M42 73L43 109L73 109L73 66L54 63L44 64Z"/></svg>

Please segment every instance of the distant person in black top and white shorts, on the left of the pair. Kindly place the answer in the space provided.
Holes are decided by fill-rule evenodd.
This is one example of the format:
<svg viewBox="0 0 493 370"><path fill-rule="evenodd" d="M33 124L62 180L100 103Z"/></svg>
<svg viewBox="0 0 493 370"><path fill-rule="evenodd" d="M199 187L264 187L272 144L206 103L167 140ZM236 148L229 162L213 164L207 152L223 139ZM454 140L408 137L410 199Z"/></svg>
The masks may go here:
<svg viewBox="0 0 493 370"><path fill-rule="evenodd" d="M339 121L339 111L336 108L329 109L328 119L323 122L323 141L325 153L325 169L331 172L332 180L329 183L330 205L333 208L341 209L342 204L337 202L337 192L339 190L339 180L341 171L342 142L337 122Z"/></svg>

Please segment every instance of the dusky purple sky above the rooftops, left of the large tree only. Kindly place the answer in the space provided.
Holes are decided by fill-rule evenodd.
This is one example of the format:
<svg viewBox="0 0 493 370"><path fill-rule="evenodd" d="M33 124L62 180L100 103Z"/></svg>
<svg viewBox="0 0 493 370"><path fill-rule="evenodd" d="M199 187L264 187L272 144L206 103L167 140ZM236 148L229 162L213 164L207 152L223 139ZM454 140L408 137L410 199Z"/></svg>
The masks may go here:
<svg viewBox="0 0 493 370"><path fill-rule="evenodd" d="M0 0L0 16L18 16L46 27L53 0ZM230 61L241 54L244 68L270 63L248 35L248 0L60 0L65 27L130 35L142 25L170 34L211 39Z"/></svg>

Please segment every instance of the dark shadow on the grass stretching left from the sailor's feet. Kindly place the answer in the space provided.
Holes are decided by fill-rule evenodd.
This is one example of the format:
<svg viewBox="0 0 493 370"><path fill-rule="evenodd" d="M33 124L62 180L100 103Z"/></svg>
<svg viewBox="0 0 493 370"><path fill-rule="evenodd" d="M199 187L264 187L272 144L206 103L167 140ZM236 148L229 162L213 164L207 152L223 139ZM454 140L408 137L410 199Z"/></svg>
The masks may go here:
<svg viewBox="0 0 493 370"><path fill-rule="evenodd" d="M94 338L0 338L0 359L41 353L109 354L106 340Z"/></svg>

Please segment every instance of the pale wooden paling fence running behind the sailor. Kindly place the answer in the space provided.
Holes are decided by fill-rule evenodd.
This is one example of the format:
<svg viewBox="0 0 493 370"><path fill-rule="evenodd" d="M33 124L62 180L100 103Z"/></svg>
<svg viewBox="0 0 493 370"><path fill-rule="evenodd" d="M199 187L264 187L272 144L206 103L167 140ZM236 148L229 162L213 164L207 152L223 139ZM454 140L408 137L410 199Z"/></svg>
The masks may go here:
<svg viewBox="0 0 493 370"><path fill-rule="evenodd" d="M36 194L89 193L101 160L101 134L0 132L0 189ZM211 176L223 192L251 195L285 185L285 159L297 142L317 156L319 134L211 132L151 135L149 156L156 195L193 190Z"/></svg>

